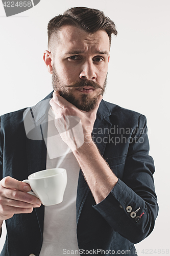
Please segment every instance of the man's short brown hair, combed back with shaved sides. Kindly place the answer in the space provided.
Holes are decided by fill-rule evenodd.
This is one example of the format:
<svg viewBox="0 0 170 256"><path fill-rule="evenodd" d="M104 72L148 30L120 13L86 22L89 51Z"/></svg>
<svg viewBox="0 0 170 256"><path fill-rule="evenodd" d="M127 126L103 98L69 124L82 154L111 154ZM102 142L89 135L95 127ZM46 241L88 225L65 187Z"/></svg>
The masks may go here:
<svg viewBox="0 0 170 256"><path fill-rule="evenodd" d="M70 25L83 29L88 33L95 33L99 30L105 30L109 36L111 44L111 35L117 35L114 22L106 17L104 12L87 7L70 8L50 20L48 23L48 49L53 48L56 38L56 32L64 25Z"/></svg>

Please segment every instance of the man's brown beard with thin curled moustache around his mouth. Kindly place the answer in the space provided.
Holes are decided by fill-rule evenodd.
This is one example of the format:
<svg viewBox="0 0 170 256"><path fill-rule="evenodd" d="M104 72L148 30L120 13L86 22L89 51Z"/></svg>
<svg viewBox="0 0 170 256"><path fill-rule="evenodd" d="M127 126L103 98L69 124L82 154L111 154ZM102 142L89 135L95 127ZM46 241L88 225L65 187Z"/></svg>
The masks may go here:
<svg viewBox="0 0 170 256"><path fill-rule="evenodd" d="M63 82L60 80L56 69L53 67L52 84L54 91L58 91L63 98L65 98L71 104L75 105L78 109L86 112L93 110L95 106L98 105L100 95L104 94L106 83L107 76L105 78L103 87L101 87L98 83L92 80L86 79L82 79L79 82L71 83L69 86L67 86L66 84L63 84ZM71 93L71 91L69 91L69 88L79 88L79 90L81 90L83 89L83 87L87 86L94 89L100 89L99 94L97 94L93 98L90 98L90 94L82 93L82 95L80 95L79 97L77 96L77 98Z"/></svg>

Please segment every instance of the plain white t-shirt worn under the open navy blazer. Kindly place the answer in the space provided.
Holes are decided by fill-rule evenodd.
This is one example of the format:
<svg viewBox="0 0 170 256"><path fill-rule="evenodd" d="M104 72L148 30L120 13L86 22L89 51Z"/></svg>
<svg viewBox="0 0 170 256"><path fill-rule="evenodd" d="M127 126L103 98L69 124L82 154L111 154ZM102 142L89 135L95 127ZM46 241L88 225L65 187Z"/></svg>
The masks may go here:
<svg viewBox="0 0 170 256"><path fill-rule="evenodd" d="M65 168L67 186L62 203L45 206L40 256L61 256L64 249L79 250L76 232L76 196L80 167L74 154L58 134L54 117L54 112L50 109L48 112L46 169Z"/></svg>

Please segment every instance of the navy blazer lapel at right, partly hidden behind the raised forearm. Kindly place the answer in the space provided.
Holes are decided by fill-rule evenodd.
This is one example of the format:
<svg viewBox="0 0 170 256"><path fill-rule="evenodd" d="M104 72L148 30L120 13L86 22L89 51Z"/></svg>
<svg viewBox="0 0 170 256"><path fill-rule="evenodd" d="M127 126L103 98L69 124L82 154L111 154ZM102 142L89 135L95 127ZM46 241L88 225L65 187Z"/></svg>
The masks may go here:
<svg viewBox="0 0 170 256"><path fill-rule="evenodd" d="M107 119L105 119L109 115L111 115L110 110L107 108L104 100L102 100L98 109L98 113L92 131L93 141L98 146L98 149L102 156L105 152L109 131L112 126L112 124ZM79 221L79 217L81 215L81 211L88 196L88 193L89 187L84 179L82 170L80 169L76 201L77 223Z"/></svg>

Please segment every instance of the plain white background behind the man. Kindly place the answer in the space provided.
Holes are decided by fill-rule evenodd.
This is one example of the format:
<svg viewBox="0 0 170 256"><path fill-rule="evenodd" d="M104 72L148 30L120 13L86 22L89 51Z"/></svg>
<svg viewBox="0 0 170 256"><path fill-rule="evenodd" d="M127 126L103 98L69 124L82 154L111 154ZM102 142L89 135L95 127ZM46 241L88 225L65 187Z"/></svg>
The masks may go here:
<svg viewBox="0 0 170 256"><path fill-rule="evenodd" d="M118 30L117 37L112 39L104 99L140 112L148 119L160 210L154 231L136 248L139 256L147 252L156 255L155 249L170 249L169 0L41 0L34 8L11 17L5 16L1 2L0 115L34 105L52 91L51 75L42 60L47 49L47 23L75 6L104 11ZM5 233L3 227L0 251Z"/></svg>

